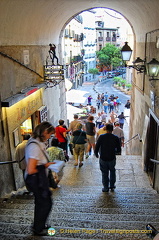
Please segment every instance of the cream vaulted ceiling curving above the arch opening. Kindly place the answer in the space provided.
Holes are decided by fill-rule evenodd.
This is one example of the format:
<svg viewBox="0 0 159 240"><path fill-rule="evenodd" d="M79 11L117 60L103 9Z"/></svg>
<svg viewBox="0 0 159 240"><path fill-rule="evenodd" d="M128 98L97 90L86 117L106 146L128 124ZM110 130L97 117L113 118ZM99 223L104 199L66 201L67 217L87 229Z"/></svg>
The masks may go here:
<svg viewBox="0 0 159 240"><path fill-rule="evenodd" d="M95 7L121 13L133 27L137 42L159 28L158 0L0 0L0 45L58 43L68 19Z"/></svg>

